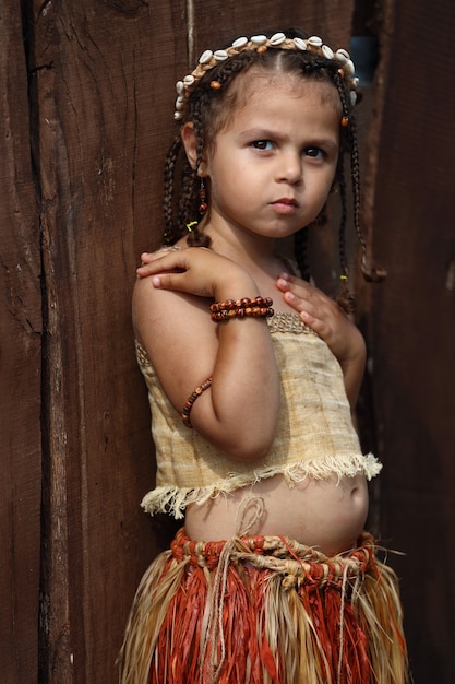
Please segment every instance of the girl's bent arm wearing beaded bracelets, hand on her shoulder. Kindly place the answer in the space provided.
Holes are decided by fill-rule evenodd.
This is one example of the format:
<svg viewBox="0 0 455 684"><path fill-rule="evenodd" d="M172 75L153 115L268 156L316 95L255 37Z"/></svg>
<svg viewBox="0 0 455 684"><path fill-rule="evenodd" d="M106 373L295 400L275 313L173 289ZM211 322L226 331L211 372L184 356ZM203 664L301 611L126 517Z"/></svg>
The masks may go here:
<svg viewBox="0 0 455 684"><path fill-rule="evenodd" d="M148 258L147 258L148 261ZM261 293L230 259L196 247L160 251L137 273L133 294L135 334L145 346L175 409L207 377L212 387L195 401L191 423L237 460L263 458L274 439L279 379L265 319L215 323L213 299Z"/></svg>

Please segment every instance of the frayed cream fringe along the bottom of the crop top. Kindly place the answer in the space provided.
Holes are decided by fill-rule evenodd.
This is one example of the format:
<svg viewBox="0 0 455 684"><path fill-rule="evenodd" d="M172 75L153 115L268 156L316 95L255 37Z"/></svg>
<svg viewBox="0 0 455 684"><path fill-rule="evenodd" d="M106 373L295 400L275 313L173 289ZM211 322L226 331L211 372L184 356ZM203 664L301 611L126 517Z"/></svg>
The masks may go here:
<svg viewBox="0 0 455 684"><path fill-rule="evenodd" d="M205 504L208 499L220 494L231 494L236 490L255 484L266 477L282 474L289 487L306 477L326 480L336 475L355 477L364 475L368 480L375 477L382 469L382 463L372 453L354 456L327 456L311 461L300 461L287 467L265 467L252 470L249 474L231 473L229 477L204 487L179 487L176 485L158 486L148 492L142 499L141 506L152 516L166 512L176 520L184 517L184 510L190 504Z"/></svg>

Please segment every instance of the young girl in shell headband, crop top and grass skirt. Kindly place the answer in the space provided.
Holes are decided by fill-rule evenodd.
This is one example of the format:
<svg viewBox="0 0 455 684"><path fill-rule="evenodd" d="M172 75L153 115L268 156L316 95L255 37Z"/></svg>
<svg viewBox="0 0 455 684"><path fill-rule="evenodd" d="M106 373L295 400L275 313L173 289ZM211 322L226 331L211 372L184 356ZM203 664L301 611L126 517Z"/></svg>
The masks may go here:
<svg viewBox="0 0 455 684"><path fill-rule="evenodd" d="M184 528L137 590L123 684L406 679L396 578L362 532L381 465L351 422L366 346L345 314L345 152L381 279L359 229L354 72L288 31L207 50L177 84L167 247L142 255L133 320L158 468L143 507ZM338 303L306 259L334 188Z"/></svg>

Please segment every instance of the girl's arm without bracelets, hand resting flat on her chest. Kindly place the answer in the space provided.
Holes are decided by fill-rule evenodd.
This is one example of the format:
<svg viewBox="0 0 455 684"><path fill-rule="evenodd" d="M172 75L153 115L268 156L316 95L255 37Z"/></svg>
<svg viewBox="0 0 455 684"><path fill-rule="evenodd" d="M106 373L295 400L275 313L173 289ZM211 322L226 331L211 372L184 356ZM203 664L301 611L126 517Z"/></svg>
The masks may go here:
<svg viewBox="0 0 455 684"><path fill-rule="evenodd" d="M354 411L363 378L366 343L359 329L339 306L310 283L282 273L277 287L304 323L324 340L336 356L345 378L346 394Z"/></svg>

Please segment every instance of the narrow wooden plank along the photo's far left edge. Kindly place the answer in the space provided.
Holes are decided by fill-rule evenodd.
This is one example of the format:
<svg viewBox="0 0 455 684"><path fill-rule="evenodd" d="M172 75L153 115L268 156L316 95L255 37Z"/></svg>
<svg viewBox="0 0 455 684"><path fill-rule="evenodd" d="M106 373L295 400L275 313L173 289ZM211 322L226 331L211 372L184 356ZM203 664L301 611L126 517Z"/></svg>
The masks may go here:
<svg viewBox="0 0 455 684"><path fill-rule="evenodd" d="M0 681L36 682L41 295L19 3L0 17Z"/></svg>

